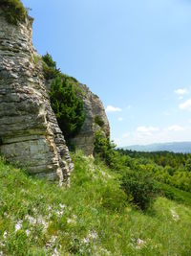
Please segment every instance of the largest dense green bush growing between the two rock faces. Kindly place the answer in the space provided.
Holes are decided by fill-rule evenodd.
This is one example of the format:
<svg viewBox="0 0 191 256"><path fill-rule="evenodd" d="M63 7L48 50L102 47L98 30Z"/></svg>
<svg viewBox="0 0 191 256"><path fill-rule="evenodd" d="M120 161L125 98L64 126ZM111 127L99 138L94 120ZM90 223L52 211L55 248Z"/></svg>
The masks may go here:
<svg viewBox="0 0 191 256"><path fill-rule="evenodd" d="M57 77L50 91L51 105L59 128L68 140L76 135L85 120L84 104L77 97L77 89L69 78Z"/></svg>

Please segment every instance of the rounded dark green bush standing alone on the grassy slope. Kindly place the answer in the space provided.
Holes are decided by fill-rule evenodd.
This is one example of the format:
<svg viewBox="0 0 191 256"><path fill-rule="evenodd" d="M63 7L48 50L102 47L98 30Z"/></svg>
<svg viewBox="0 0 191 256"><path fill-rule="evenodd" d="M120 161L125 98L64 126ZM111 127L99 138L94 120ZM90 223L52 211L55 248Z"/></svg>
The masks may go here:
<svg viewBox="0 0 191 256"><path fill-rule="evenodd" d="M123 173L121 188L128 200L143 211L150 206L159 193L159 189L150 174L131 170Z"/></svg>

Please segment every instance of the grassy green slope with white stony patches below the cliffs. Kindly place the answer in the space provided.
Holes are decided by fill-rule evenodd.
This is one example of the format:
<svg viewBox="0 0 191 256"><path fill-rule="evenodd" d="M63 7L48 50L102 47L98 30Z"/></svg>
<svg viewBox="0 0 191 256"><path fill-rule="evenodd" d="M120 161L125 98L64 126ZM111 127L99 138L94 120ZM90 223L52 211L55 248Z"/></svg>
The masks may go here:
<svg viewBox="0 0 191 256"><path fill-rule="evenodd" d="M116 174L80 152L73 159L71 188L0 160L0 255L190 255L189 203L158 198L143 214Z"/></svg>

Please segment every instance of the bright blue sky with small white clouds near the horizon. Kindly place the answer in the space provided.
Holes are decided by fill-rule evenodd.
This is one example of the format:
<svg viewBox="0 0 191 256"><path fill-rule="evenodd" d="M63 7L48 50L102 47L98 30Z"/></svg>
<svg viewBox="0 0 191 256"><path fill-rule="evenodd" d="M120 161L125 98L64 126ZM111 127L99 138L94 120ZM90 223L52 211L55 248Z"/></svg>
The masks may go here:
<svg viewBox="0 0 191 256"><path fill-rule="evenodd" d="M23 3L35 48L100 97L117 146L191 141L191 1Z"/></svg>

